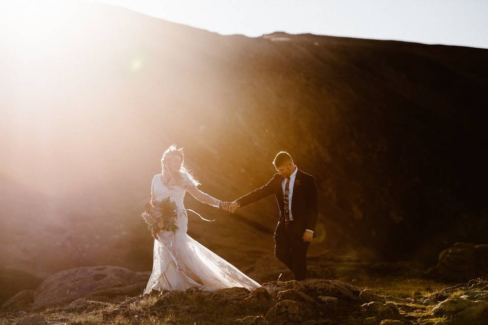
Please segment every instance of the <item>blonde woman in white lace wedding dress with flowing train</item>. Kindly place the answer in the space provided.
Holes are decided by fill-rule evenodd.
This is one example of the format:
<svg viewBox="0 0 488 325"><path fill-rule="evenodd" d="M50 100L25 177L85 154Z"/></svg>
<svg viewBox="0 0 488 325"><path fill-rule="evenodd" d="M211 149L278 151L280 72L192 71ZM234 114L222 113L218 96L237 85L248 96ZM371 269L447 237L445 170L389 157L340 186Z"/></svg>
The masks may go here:
<svg viewBox="0 0 488 325"><path fill-rule="evenodd" d="M186 290L190 287L202 290L260 287L259 283L188 236L188 216L183 205L185 193L188 191L198 201L216 208L220 207L221 201L197 188L199 183L183 164L183 158L182 149L170 146L161 159L162 174L153 178L151 202L169 197L176 203L178 230L175 233L161 230L153 234L153 273L144 294L151 290Z"/></svg>

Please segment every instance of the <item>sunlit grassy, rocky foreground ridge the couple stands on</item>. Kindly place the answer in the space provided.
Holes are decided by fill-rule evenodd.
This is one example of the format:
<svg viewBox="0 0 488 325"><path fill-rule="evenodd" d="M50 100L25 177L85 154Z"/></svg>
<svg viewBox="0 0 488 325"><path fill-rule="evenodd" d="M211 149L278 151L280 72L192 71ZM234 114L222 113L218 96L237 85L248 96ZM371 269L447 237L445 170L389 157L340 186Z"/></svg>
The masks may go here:
<svg viewBox="0 0 488 325"><path fill-rule="evenodd" d="M119 303L78 298L0 324L486 324L488 281L480 278L400 298L339 280L272 281L261 288L162 291Z"/></svg>

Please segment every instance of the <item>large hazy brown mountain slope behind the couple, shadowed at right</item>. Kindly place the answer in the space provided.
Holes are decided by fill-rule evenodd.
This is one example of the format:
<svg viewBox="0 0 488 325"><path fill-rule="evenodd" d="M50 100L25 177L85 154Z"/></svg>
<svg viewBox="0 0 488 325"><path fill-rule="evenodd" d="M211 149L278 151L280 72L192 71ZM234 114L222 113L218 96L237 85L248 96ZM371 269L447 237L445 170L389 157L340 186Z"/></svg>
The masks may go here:
<svg viewBox="0 0 488 325"><path fill-rule="evenodd" d="M36 238L70 249L53 251L62 245L53 243L43 252L81 250L86 258L70 266L110 259L150 269L151 239L138 215L173 143L186 148L200 188L222 200L261 186L275 173L274 155L289 151L319 186L312 254L354 249L361 258L429 264L455 241L485 242L488 50L221 36L77 6L52 30L1 34L2 173L64 211L54 218L60 233L46 225ZM272 254L274 199L232 216L193 198L186 204L217 219L191 219L189 234L231 263ZM35 249L23 254L44 263Z"/></svg>

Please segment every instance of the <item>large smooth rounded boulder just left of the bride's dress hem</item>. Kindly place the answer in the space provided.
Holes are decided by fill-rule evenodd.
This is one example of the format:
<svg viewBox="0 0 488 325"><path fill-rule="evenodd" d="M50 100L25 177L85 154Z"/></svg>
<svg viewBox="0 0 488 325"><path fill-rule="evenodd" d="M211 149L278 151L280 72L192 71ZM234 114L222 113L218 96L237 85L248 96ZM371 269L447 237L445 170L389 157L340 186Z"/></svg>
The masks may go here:
<svg viewBox="0 0 488 325"><path fill-rule="evenodd" d="M80 267L58 272L41 283L34 292L34 309L70 303L78 298L100 296L103 290L128 288L134 295L132 285L147 282L149 272L134 272L118 266ZM139 292L142 294L142 290Z"/></svg>

